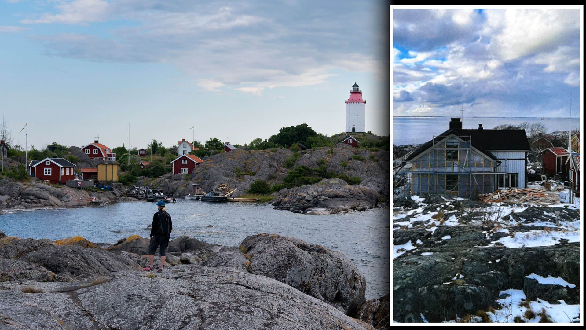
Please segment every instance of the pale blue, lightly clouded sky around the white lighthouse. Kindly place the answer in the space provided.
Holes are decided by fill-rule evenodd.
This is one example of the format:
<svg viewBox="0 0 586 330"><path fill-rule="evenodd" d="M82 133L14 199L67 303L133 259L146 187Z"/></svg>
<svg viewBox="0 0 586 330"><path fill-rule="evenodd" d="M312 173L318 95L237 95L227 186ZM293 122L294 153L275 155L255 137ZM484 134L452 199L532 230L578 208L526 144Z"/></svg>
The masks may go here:
<svg viewBox="0 0 586 330"><path fill-rule="evenodd" d="M0 98L36 148L231 144L306 123L345 130L355 81L366 130L389 135L383 1L0 0ZM193 130L187 128L195 127Z"/></svg>

